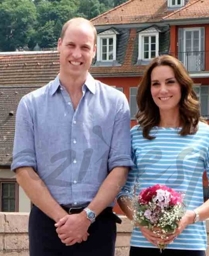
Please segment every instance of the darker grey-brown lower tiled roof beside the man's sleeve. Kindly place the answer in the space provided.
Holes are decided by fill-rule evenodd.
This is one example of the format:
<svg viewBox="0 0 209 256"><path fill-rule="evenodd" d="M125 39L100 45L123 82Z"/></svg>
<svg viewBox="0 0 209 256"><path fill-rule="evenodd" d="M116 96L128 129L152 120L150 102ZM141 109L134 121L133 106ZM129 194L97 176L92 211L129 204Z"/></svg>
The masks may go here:
<svg viewBox="0 0 209 256"><path fill-rule="evenodd" d="M0 86L0 165L11 164L15 114L20 99L40 86Z"/></svg>

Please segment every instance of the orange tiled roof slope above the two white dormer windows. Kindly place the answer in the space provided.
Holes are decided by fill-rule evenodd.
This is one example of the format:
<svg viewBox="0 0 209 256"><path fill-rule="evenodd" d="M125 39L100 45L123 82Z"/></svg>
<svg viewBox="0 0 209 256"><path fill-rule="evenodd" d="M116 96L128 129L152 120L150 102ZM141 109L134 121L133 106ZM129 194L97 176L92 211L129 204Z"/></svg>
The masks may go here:
<svg viewBox="0 0 209 256"><path fill-rule="evenodd" d="M95 26L157 22L169 13L167 6L167 0L129 0L91 21Z"/></svg>

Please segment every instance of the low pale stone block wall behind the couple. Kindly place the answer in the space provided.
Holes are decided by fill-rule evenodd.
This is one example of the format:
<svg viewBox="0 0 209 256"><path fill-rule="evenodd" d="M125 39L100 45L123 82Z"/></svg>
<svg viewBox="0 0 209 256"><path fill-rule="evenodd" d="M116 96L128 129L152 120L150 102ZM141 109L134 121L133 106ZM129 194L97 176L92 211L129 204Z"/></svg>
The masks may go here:
<svg viewBox="0 0 209 256"><path fill-rule="evenodd" d="M28 253L28 213L0 212L0 256L29 256ZM206 222L209 236L209 220ZM132 224L122 217L117 225L115 256L128 256ZM209 249L206 253L209 256Z"/></svg>

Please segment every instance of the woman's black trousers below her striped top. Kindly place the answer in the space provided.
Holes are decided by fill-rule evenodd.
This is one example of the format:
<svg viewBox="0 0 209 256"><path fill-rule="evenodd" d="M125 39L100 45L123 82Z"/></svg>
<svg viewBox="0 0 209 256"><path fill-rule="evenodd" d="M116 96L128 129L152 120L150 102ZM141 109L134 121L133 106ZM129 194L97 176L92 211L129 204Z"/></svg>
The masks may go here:
<svg viewBox="0 0 209 256"><path fill-rule="evenodd" d="M130 247L129 256L205 256L205 251L164 249L162 253L158 248Z"/></svg>

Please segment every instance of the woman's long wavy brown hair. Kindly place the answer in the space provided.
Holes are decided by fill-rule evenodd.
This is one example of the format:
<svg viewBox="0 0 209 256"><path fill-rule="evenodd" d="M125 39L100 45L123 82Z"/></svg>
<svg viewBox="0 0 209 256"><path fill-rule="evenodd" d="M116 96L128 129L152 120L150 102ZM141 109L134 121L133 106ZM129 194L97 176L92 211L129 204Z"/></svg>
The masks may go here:
<svg viewBox="0 0 209 256"><path fill-rule="evenodd" d="M182 129L179 134L194 134L197 131L200 112L199 102L192 89L193 81L189 77L186 68L179 60L170 55L161 55L152 60L138 86L137 104L139 110L136 114L136 118L143 130L143 136L144 138L154 139L155 137L149 135L150 130L153 126L158 126L160 123L159 108L153 101L151 95L151 73L155 67L161 65L169 66L173 69L175 78L181 86L179 111Z"/></svg>

